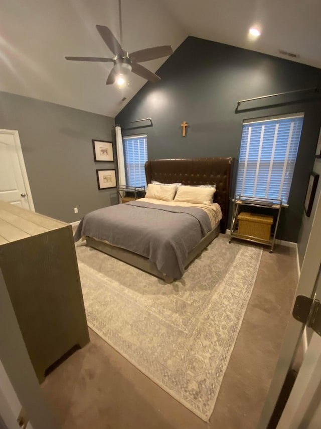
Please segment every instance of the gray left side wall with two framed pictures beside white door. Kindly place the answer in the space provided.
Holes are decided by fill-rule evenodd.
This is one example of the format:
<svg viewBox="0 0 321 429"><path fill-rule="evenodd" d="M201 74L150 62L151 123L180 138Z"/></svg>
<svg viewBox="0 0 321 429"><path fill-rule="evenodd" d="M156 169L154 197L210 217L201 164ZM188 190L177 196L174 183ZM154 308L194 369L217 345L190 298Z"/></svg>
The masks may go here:
<svg viewBox="0 0 321 429"><path fill-rule="evenodd" d="M117 202L96 179L96 168L114 163L95 163L92 149L92 139L111 141L113 126L113 118L0 92L0 128L19 131L36 211L65 222Z"/></svg>

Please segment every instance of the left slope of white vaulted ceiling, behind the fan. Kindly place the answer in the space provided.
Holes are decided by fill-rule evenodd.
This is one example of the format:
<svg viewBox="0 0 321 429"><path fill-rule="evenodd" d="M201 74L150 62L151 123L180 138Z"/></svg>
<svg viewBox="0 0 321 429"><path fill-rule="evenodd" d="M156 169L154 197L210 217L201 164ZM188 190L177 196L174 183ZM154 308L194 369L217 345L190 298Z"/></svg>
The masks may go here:
<svg viewBox="0 0 321 429"><path fill-rule="evenodd" d="M156 0L122 0L123 47L172 45L185 32ZM96 24L119 38L117 0L0 0L0 90L114 117L145 80L131 73L123 93L106 85L112 63L67 61L113 57ZM155 71L166 58L144 63Z"/></svg>

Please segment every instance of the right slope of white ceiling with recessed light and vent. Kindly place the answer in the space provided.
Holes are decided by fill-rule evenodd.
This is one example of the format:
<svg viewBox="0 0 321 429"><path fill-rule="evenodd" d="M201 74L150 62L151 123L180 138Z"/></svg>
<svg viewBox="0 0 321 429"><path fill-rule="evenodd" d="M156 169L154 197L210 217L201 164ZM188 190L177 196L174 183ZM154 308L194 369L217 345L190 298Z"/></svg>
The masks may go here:
<svg viewBox="0 0 321 429"><path fill-rule="evenodd" d="M321 68L320 0L163 0L185 31L196 37ZM184 11L184 12L183 12ZM261 36L251 41L250 27Z"/></svg>

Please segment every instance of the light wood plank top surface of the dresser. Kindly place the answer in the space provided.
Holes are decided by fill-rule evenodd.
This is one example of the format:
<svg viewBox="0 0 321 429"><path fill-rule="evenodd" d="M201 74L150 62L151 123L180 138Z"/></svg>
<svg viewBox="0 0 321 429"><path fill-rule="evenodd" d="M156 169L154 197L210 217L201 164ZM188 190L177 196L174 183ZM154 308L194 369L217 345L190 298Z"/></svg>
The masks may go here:
<svg viewBox="0 0 321 429"><path fill-rule="evenodd" d="M0 245L68 225L60 220L0 201Z"/></svg>

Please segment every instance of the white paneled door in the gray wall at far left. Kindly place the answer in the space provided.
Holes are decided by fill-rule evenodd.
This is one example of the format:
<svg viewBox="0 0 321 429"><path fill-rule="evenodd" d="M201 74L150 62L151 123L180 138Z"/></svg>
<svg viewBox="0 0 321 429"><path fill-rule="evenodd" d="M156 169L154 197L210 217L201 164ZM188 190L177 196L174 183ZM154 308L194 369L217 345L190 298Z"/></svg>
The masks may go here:
<svg viewBox="0 0 321 429"><path fill-rule="evenodd" d="M0 200L35 211L19 133L0 130Z"/></svg>

